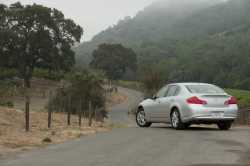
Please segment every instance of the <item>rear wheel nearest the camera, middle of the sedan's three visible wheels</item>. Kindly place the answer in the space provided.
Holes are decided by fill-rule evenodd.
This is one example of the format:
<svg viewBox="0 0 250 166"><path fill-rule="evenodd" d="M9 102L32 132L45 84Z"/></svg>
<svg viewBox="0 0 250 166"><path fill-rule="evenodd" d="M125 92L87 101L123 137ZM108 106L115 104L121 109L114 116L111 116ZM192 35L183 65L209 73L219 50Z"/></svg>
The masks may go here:
<svg viewBox="0 0 250 166"><path fill-rule="evenodd" d="M172 128L176 130L183 130L189 127L187 124L183 123L181 120L181 115L178 109L174 109L171 113L171 125Z"/></svg>

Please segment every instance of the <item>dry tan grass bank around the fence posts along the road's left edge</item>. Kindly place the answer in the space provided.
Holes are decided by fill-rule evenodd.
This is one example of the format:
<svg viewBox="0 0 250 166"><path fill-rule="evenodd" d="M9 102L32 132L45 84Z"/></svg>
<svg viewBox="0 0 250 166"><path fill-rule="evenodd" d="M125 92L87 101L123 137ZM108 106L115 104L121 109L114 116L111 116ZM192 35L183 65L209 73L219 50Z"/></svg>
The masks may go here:
<svg viewBox="0 0 250 166"><path fill-rule="evenodd" d="M24 131L23 118L22 111L0 108L0 156L47 145L43 141L45 138L49 138L51 143L62 143L109 130L96 122L92 127L87 127L87 120L83 120L83 126L79 127L77 116L72 116L72 125L67 126L66 115L60 113L53 114L53 126L48 129L47 113L31 112L31 131L27 133Z"/></svg>

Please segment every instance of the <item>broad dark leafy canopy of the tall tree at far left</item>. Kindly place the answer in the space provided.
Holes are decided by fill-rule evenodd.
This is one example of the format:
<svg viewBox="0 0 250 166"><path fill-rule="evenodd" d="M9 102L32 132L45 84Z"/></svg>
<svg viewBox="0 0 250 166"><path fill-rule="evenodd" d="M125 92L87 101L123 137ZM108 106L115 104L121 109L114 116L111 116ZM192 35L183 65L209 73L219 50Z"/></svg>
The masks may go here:
<svg viewBox="0 0 250 166"><path fill-rule="evenodd" d="M42 5L0 5L0 62L17 68L25 80L35 67L69 70L75 63L71 47L82 28L62 12Z"/></svg>

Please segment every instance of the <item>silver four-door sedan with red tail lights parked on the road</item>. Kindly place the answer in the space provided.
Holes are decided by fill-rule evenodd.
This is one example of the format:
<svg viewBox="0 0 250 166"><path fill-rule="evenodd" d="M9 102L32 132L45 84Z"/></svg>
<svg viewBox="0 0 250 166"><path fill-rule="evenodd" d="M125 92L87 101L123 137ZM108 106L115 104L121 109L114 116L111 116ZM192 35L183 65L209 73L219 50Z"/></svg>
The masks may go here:
<svg viewBox="0 0 250 166"><path fill-rule="evenodd" d="M136 122L140 127L152 123L171 123L175 129L192 124L217 124L229 130L237 118L235 97L205 83L176 83L163 87L153 98L138 106Z"/></svg>

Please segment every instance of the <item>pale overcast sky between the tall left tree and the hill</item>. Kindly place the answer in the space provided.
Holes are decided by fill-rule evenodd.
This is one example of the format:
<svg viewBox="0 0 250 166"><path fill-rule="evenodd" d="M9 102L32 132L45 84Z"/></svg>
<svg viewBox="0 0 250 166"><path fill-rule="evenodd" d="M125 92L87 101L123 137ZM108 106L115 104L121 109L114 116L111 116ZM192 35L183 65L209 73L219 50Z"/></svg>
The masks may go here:
<svg viewBox="0 0 250 166"><path fill-rule="evenodd" d="M17 0L0 0L13 3ZM38 3L57 8L84 28L83 40L90 40L95 34L116 24L125 16L134 16L155 0L19 0L22 3Z"/></svg>

